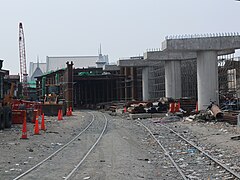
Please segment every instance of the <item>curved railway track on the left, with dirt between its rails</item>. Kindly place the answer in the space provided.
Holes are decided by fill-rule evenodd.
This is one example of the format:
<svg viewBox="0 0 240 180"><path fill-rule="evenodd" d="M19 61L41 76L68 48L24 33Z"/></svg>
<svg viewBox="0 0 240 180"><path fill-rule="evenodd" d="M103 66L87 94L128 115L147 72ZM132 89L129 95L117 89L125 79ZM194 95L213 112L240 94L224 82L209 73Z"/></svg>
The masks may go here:
<svg viewBox="0 0 240 180"><path fill-rule="evenodd" d="M96 115L89 113L92 115L91 122L77 136L14 180L70 179L96 147L107 129L108 120L104 114L96 120Z"/></svg>

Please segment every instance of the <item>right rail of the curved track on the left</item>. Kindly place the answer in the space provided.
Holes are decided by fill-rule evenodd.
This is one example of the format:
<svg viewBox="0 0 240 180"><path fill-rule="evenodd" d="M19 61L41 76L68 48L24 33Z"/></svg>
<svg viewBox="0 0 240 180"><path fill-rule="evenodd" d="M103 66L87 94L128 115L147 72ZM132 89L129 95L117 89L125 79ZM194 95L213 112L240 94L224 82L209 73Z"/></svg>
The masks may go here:
<svg viewBox="0 0 240 180"><path fill-rule="evenodd" d="M95 148L95 146L101 140L104 132L107 129L107 124L108 124L108 120L107 120L106 116L104 114L103 114L103 116L105 118L105 125L104 125L104 128L103 128L101 134L99 135L97 141L92 145L92 147L88 150L88 152L85 154L85 156L82 158L82 160L75 166L75 168L68 174L68 176L66 176L64 178L65 180L68 180L76 172L76 170L79 168L79 166L81 166L81 164L84 162L84 160L88 157L88 155L91 153L91 151Z"/></svg>

